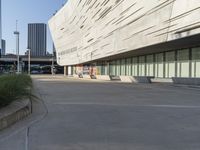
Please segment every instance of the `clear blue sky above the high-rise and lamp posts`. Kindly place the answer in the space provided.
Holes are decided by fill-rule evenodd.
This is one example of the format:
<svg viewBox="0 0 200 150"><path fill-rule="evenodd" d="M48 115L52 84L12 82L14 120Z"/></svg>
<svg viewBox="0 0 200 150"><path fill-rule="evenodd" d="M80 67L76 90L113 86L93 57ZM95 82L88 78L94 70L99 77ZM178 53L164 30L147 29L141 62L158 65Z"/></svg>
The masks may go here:
<svg viewBox="0 0 200 150"><path fill-rule="evenodd" d="M28 23L48 23L53 13L59 10L66 0L2 0L2 38L6 40L6 53L16 52L15 36L18 20L20 32L20 54L27 48ZM47 51L52 53L52 40L48 29Z"/></svg>

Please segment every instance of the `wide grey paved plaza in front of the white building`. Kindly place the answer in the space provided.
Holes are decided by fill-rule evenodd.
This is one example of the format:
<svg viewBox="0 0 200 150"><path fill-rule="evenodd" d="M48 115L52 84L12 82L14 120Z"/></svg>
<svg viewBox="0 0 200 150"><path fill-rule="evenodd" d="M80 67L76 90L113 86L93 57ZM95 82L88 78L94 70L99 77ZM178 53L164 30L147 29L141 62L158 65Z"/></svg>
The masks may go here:
<svg viewBox="0 0 200 150"><path fill-rule="evenodd" d="M33 114L0 132L0 150L200 149L200 88L33 80Z"/></svg>

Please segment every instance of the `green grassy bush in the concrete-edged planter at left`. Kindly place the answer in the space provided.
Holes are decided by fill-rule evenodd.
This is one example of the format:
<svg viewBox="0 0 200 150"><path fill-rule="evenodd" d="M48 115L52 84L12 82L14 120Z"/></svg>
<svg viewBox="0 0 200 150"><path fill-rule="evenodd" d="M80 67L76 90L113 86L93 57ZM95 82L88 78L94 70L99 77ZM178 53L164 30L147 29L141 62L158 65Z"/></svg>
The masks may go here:
<svg viewBox="0 0 200 150"><path fill-rule="evenodd" d="M11 102L30 98L32 80L28 75L4 75L0 76L0 107Z"/></svg>

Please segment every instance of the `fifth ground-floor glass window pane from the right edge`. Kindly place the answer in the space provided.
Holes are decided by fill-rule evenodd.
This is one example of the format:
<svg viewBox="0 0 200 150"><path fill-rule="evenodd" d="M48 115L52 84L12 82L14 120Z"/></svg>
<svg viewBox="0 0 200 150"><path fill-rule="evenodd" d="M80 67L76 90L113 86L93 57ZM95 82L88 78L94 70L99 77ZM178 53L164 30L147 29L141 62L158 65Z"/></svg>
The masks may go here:
<svg viewBox="0 0 200 150"><path fill-rule="evenodd" d="M147 76L154 76L154 62L153 62L153 55L146 56L146 75Z"/></svg>

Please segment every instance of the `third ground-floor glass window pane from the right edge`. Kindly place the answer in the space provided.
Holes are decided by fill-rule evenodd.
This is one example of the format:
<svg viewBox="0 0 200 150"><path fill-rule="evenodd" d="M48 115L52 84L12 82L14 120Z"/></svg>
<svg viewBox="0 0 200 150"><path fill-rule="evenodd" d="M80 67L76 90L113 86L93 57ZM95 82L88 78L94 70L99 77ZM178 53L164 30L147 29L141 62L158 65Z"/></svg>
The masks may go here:
<svg viewBox="0 0 200 150"><path fill-rule="evenodd" d="M175 77L176 61L175 61L175 51L166 52L165 55L165 77L171 78Z"/></svg>

